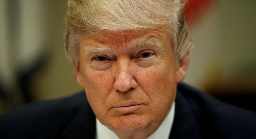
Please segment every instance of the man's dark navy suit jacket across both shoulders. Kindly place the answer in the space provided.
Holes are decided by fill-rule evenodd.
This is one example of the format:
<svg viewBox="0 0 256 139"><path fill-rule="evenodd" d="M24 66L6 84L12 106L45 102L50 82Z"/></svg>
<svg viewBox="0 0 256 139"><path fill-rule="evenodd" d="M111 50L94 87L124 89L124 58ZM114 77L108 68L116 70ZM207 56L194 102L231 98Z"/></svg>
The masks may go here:
<svg viewBox="0 0 256 139"><path fill-rule="evenodd" d="M0 117L0 139L94 139L84 92L32 103ZM179 84L170 139L256 139L256 114Z"/></svg>

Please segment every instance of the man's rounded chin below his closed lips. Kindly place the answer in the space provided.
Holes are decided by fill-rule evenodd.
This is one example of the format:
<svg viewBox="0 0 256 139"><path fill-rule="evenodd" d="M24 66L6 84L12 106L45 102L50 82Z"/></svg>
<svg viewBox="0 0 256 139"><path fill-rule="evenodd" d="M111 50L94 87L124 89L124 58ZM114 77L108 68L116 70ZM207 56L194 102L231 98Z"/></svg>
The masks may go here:
<svg viewBox="0 0 256 139"><path fill-rule="evenodd" d="M150 119L137 114L125 114L116 118L111 124L111 130L125 134L132 134L149 127Z"/></svg>

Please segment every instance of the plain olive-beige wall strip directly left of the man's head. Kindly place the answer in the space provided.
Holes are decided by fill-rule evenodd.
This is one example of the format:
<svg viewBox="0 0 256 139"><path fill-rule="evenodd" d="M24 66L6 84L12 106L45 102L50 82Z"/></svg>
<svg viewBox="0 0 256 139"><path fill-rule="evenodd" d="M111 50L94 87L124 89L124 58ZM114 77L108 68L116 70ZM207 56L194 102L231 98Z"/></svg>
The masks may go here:
<svg viewBox="0 0 256 139"><path fill-rule="evenodd" d="M66 60L63 47L64 15L66 3L63 0L44 1L47 53L49 61L34 76L34 90L37 100L57 98L81 91L76 83L72 65Z"/></svg>

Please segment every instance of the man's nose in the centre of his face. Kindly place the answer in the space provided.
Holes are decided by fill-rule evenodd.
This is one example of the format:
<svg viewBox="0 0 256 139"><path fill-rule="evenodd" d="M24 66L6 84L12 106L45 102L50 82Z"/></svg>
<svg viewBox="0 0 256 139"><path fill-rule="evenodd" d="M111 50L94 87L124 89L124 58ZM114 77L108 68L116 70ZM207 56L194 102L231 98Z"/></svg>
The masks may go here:
<svg viewBox="0 0 256 139"><path fill-rule="evenodd" d="M132 66L129 60L119 59L116 63L116 77L114 89L125 92L131 88L136 88L137 82L132 74Z"/></svg>

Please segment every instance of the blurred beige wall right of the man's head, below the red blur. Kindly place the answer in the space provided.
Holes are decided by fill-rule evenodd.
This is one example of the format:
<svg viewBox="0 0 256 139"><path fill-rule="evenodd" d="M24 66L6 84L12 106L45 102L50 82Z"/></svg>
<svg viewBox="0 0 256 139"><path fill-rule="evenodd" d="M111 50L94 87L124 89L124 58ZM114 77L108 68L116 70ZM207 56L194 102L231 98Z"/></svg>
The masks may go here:
<svg viewBox="0 0 256 139"><path fill-rule="evenodd" d="M216 1L213 9L190 28L195 48L186 82L201 89L228 83L254 86L255 6L255 0Z"/></svg>

